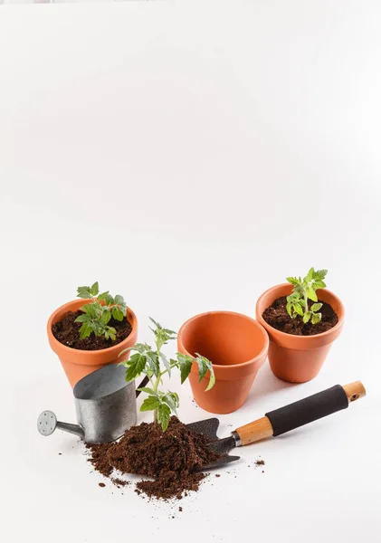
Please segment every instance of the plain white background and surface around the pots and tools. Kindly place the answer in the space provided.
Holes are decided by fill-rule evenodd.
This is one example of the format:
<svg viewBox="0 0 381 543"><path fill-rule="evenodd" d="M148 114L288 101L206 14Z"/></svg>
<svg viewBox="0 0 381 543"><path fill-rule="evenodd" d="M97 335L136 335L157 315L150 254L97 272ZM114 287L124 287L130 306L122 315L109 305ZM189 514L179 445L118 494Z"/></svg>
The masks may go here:
<svg viewBox="0 0 381 543"><path fill-rule="evenodd" d="M379 540L380 17L378 0L0 9L2 540ZM146 340L148 315L253 316L311 265L341 337L308 384L266 364L220 434L337 383L367 398L243 448L182 513L100 489L75 437L37 433L43 409L74 422L45 326L78 285L123 294ZM207 416L187 384L180 416Z"/></svg>

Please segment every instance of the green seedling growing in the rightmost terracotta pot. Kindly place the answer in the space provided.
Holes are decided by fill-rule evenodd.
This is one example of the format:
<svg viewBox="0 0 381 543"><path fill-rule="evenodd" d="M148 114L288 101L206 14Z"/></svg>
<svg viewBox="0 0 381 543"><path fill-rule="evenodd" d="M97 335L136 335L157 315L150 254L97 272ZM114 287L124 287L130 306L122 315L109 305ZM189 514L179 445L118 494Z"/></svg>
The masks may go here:
<svg viewBox="0 0 381 543"><path fill-rule="evenodd" d="M324 289L326 283L323 279L326 277L328 270L317 270L313 268L307 273L306 277L301 280L297 277L288 277L287 281L293 285L293 291L287 297L287 311L292 319L296 319L298 315L302 317L303 322L309 321L312 324L317 324L321 320L322 303L318 302L316 291ZM309 300L314 301L309 307Z"/></svg>

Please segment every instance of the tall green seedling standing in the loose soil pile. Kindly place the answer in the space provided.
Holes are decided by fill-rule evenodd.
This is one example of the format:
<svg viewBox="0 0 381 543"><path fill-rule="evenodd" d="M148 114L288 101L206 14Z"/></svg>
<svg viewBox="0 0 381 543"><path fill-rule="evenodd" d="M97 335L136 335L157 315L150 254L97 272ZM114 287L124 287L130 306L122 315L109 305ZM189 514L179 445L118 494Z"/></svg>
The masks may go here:
<svg viewBox="0 0 381 543"><path fill-rule="evenodd" d="M163 432L167 430L171 413L176 414L179 405L179 397L176 392L162 392L159 386L162 385L162 377L166 374L171 376L172 370L176 367L180 370L181 384L189 376L192 364L195 362L198 366L199 381L201 381L209 371L209 384L206 390L214 386L215 377L212 362L205 357L197 354L195 357L189 357L181 353L176 353L176 358L168 358L161 352L161 348L167 345L167 342L176 339L176 332L163 328L154 319L149 318L155 328L151 329L155 335L155 348L151 348L147 343L137 343L134 347L124 349L120 355L127 351L135 351L129 360L120 364L126 367L126 381L133 381L140 375L148 376L150 386L138 388L148 394L140 407L140 411L153 411L154 420L161 424ZM119 355L119 356L120 356Z"/></svg>

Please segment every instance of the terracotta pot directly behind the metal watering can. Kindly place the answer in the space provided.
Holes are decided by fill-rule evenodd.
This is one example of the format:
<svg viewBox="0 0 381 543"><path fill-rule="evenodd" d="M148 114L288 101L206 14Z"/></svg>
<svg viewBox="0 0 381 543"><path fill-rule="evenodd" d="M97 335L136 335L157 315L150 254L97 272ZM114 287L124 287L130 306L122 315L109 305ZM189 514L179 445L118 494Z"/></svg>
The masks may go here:
<svg viewBox="0 0 381 543"><path fill-rule="evenodd" d="M52 325L62 319L63 315L68 311L77 311L85 303L90 303L90 300L73 300L65 303L52 313L48 320L48 338L52 350L61 360L62 367L65 370L66 376L69 379L71 386L80 381L84 376L107 364L115 364L120 362L119 353L128 347L135 345L138 339L138 319L135 314L127 308L127 318L132 326L129 337L110 348L102 348L100 350L89 351L71 348L63 345L52 335ZM129 354L123 357L127 360Z"/></svg>

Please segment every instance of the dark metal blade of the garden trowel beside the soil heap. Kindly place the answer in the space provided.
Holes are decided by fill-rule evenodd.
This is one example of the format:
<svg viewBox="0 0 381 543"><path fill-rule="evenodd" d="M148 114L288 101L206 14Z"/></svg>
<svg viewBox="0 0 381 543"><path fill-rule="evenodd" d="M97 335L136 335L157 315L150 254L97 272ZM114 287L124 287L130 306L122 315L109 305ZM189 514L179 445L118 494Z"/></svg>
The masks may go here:
<svg viewBox="0 0 381 543"><path fill-rule="evenodd" d="M222 456L218 460L207 464L197 470L198 472L213 470L214 468L219 468L226 463L235 462L236 460L240 459L239 456L233 456L228 454L229 451L235 448L235 440L233 438L233 435L230 435L229 437L224 437L223 439L218 438L217 430L219 425L220 421L215 417L205 419L205 421L198 421L197 423L186 424L186 426L190 430L193 430L196 433L202 433L210 440L210 443L208 443L208 447L210 449L218 452L219 454L224 454L224 456Z"/></svg>

